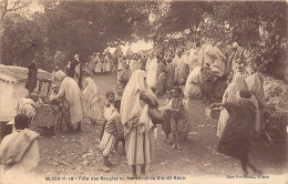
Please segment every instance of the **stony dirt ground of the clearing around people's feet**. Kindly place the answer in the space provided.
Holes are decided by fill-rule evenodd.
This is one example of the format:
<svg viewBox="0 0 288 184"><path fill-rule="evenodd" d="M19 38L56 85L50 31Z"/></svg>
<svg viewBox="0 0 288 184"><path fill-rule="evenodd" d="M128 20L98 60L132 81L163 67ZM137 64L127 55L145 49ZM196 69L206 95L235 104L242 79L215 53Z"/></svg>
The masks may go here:
<svg viewBox="0 0 288 184"><path fill-rule="evenodd" d="M105 92L116 88L116 74L95 75L93 79L100 88L103 103ZM161 104L163 101L161 100ZM158 127L155 161L150 165L147 176L243 174L237 160L216 152L217 120L205 116L206 106L199 101L189 103L191 133L188 141L181 143L181 151L171 149L171 144L164 142L163 131ZM82 131L79 133L61 132L59 137L41 136L41 160L37 172L44 176L131 176L131 168L125 163L123 153L110 157L114 163L110 172L100 170L100 124L82 123ZM285 174L288 171L287 156L287 142L269 144L266 140L260 140L253 143L250 160L265 175Z"/></svg>

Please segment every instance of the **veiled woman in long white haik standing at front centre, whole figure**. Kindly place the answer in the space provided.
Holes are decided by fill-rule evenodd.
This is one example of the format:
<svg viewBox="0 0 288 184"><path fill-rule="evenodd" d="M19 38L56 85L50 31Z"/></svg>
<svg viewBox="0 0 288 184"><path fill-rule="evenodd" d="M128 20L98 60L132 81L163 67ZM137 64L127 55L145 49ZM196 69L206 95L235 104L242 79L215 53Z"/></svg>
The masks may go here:
<svg viewBox="0 0 288 184"><path fill-rule="evenodd" d="M136 166L141 165L141 175L154 155L154 125L148 115L150 102L156 103L156 96L146 83L146 72L136 70L122 96L121 122L124 126L127 164L132 166L132 176L137 176ZM145 94L146 100L143 94Z"/></svg>

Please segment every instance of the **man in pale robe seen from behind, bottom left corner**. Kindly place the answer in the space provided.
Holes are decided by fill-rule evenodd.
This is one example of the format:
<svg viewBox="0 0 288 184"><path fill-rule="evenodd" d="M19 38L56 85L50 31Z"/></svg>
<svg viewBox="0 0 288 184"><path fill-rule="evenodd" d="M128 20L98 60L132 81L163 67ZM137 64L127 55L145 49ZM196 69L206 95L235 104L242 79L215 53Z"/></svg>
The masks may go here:
<svg viewBox="0 0 288 184"><path fill-rule="evenodd" d="M1 142L0 161L2 176L13 178L20 174L31 173L39 163L39 134L27 129L29 117L16 115L17 132L11 133Z"/></svg>

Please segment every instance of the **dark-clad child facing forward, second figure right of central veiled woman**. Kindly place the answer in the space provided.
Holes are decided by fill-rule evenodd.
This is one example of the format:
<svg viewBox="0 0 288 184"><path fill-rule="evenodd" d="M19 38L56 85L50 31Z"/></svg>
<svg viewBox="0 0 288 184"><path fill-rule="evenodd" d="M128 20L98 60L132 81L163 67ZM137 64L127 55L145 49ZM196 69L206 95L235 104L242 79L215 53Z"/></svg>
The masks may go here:
<svg viewBox="0 0 288 184"><path fill-rule="evenodd" d="M189 131L189 122L187 121L187 103L183 98L182 89L176 86L173 91L171 106L171 129L173 133L172 149L182 149L179 141L187 139Z"/></svg>

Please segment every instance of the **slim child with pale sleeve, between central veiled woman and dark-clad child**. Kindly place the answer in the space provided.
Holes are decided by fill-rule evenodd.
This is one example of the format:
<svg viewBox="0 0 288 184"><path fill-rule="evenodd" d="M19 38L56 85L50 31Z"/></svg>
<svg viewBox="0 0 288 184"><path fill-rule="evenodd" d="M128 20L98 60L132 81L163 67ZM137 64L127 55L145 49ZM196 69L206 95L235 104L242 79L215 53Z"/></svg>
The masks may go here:
<svg viewBox="0 0 288 184"><path fill-rule="evenodd" d="M171 143L169 141L169 133L171 133L171 112L169 112L169 108L171 108L171 104L172 104L172 92L171 91L166 91L166 95L167 95L167 99L164 103L165 106L161 108L160 110L163 110L164 113L163 113L163 116L164 116L164 121L163 121L163 124L162 124L162 130L163 132L165 133L165 142L166 143Z"/></svg>

